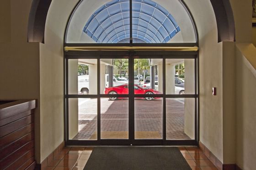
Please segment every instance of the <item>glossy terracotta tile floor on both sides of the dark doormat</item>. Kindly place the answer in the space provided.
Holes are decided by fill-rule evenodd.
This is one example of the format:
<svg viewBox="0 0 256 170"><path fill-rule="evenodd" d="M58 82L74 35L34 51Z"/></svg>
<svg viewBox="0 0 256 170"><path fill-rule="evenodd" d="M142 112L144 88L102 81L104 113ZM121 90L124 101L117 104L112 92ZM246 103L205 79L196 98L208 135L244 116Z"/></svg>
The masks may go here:
<svg viewBox="0 0 256 170"><path fill-rule="evenodd" d="M93 148L65 148L45 170L83 170ZM192 170L218 170L198 148L179 148Z"/></svg>

